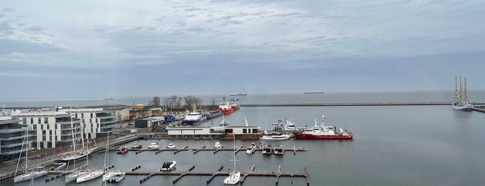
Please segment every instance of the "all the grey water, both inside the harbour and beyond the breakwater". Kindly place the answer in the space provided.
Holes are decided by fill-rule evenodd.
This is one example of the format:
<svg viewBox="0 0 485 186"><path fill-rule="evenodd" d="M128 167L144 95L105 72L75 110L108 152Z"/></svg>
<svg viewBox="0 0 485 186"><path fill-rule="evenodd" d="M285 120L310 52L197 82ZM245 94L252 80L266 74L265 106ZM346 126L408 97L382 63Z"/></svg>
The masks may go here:
<svg viewBox="0 0 485 186"><path fill-rule="evenodd" d="M204 103L225 95L201 96ZM239 103L409 103L450 101L450 92L334 92L325 94L248 94L235 96ZM160 96L163 99L163 96ZM485 102L485 91L470 92L473 101ZM226 96L226 99L232 98ZM56 106L56 105L110 105L148 103L151 97L83 99L83 100L30 100L3 101L7 106ZM207 101L207 102L206 102ZM261 151L248 155L237 153L236 167L249 171L255 165L255 172L276 172L278 167L287 173L309 171L309 185L485 185L485 113L466 112L452 109L451 105L385 105L385 106L307 106L307 107L242 107L225 119L232 126L244 125L245 118L250 126L271 130L273 123L285 119L296 126L325 124L346 128L354 133L354 140L283 140L259 141L236 140L236 146L257 144L284 144L287 149L305 148L308 151L285 152L284 155L262 155ZM213 119L219 124L221 117ZM207 121L201 126L209 126ZM138 140L148 146L159 142L162 147L169 143L178 147L210 148L216 140ZM135 142L131 142L132 144ZM224 148L232 148L231 140L222 140ZM132 144L126 144L131 146ZM89 158L91 168L101 168L104 153L94 153ZM221 165L223 171L232 171L234 164L231 151L181 151L173 154L164 151L155 154L144 151L117 155L109 152L109 164L114 169L128 171L137 164L136 171L158 171L164 161L176 160L177 170L216 171ZM223 185L225 176L216 176L206 183L209 176L184 176L173 183L176 176L152 176L139 183L145 176L126 176L114 185ZM86 183L64 183L58 178L48 183L44 176L33 181L33 185L101 185L101 178ZM242 185L276 185L275 177L248 176ZM30 185L1 180L0 185ZM305 178L280 177L278 185L307 185Z"/></svg>

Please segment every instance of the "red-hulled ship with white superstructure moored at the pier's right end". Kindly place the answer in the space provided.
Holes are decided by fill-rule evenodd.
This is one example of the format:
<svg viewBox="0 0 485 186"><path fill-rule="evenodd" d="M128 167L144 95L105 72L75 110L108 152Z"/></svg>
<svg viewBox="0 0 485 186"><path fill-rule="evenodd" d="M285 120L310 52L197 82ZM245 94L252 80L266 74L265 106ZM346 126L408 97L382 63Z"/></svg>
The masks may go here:
<svg viewBox="0 0 485 186"><path fill-rule="evenodd" d="M354 134L348 130L337 128L335 126L325 126L325 116L322 115L322 124L303 131L295 132L293 135L299 139L320 139L320 140L352 140Z"/></svg>

